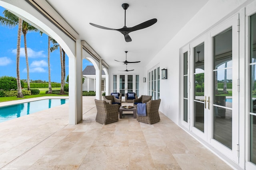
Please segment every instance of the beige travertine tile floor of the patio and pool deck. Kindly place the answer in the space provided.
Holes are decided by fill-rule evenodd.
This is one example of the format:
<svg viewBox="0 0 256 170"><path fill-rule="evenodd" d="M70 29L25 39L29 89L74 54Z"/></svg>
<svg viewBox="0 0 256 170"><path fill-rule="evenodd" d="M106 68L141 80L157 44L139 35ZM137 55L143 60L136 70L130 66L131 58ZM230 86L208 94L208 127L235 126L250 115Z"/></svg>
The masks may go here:
<svg viewBox="0 0 256 170"><path fill-rule="evenodd" d="M161 112L153 125L133 116L97 123L94 98L83 96L83 120L77 125L68 124L68 104L0 123L0 169L232 169Z"/></svg>

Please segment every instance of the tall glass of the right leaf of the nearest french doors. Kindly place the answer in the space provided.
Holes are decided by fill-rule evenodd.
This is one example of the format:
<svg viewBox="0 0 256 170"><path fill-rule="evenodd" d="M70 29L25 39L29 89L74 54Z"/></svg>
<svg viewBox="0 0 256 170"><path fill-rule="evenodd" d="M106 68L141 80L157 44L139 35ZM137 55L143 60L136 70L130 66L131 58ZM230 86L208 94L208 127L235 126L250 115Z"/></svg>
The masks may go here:
<svg viewBox="0 0 256 170"><path fill-rule="evenodd" d="M232 28L213 37L213 139L232 149Z"/></svg>

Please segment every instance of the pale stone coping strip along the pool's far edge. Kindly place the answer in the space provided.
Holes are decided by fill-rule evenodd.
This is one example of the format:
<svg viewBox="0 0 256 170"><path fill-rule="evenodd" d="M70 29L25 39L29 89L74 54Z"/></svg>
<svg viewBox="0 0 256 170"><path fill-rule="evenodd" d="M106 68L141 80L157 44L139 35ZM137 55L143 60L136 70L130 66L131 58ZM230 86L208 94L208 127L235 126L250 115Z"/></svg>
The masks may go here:
<svg viewBox="0 0 256 170"><path fill-rule="evenodd" d="M26 102L33 102L33 101L44 100L44 99L68 99L68 96L44 96L44 97L38 97L38 98L12 100L12 101L8 101L8 102L0 102L0 107L10 106L10 105L14 105L14 104L21 104L21 103L26 103Z"/></svg>

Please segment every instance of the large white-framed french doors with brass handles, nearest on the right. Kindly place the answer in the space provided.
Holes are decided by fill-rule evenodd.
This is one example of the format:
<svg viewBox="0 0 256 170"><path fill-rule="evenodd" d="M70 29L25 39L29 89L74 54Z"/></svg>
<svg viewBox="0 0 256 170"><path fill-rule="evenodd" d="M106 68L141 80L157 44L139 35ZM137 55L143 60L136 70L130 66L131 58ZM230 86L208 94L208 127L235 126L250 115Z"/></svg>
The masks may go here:
<svg viewBox="0 0 256 170"><path fill-rule="evenodd" d="M237 21L235 15L182 49L182 125L234 162L239 158Z"/></svg>

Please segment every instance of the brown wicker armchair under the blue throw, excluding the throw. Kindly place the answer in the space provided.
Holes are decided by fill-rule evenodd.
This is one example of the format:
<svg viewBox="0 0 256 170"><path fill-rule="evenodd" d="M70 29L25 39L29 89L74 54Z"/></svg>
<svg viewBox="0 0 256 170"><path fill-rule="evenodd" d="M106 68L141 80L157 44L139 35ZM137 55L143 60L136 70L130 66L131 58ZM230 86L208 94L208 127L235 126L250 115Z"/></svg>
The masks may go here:
<svg viewBox="0 0 256 170"><path fill-rule="evenodd" d="M160 121L160 116L158 112L160 102L161 99L148 101L146 103L147 116L138 116L137 114L137 120L148 123L150 125Z"/></svg>

